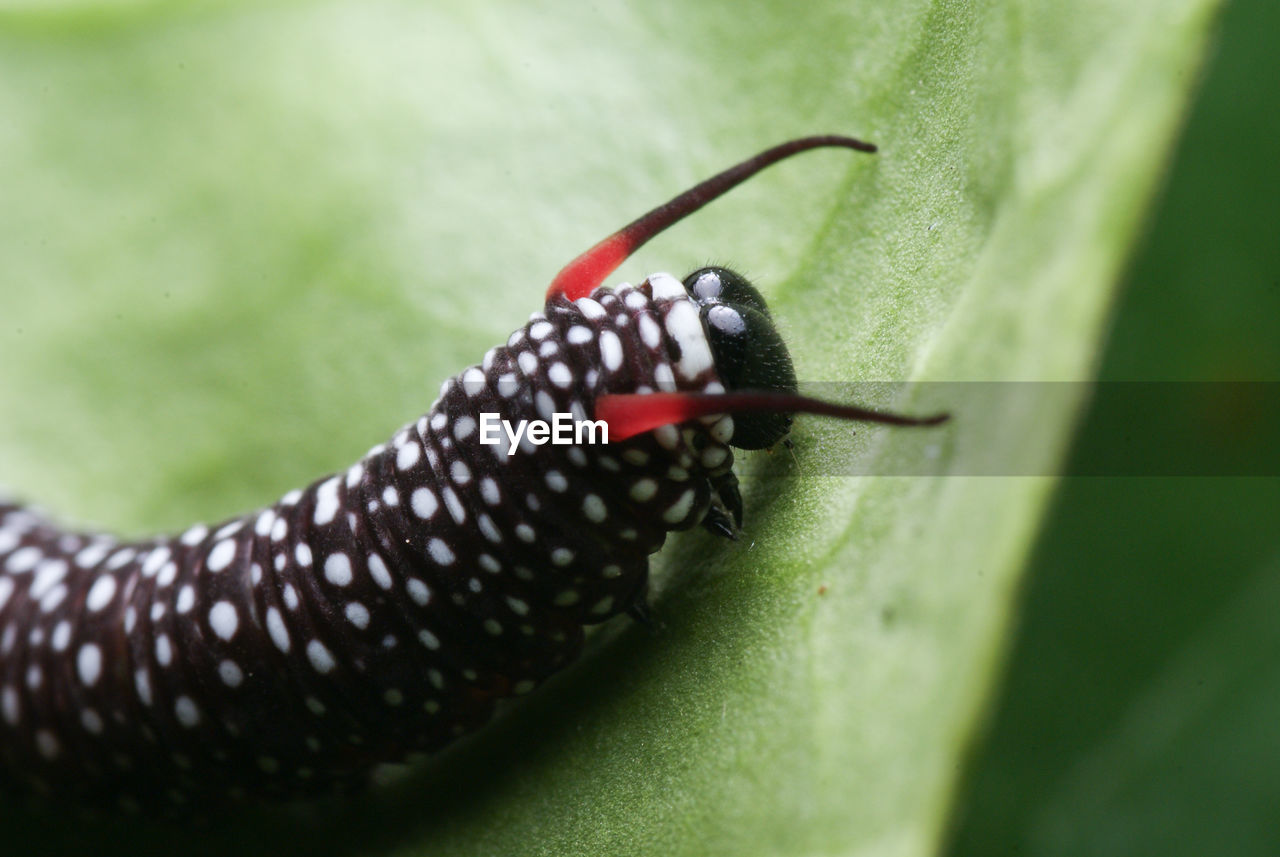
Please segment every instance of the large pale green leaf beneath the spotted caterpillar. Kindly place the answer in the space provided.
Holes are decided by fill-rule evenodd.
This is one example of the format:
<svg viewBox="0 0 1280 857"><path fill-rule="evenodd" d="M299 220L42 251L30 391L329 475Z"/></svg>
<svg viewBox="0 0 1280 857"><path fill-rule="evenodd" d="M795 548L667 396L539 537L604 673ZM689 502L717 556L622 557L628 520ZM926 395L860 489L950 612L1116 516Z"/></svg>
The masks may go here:
<svg viewBox="0 0 1280 857"><path fill-rule="evenodd" d="M1215 6L440 5L0 13L22 495L128 532L270 501L421 412L604 233L813 132L882 152L774 168L622 276L746 269L809 381L1087 380ZM794 460L745 457L742 542L662 554L653 632L611 623L402 784L198 848L934 851L1053 485L965 463L1053 472L1076 399L876 402L955 420L851 446L803 421ZM841 476L931 453L951 476Z"/></svg>

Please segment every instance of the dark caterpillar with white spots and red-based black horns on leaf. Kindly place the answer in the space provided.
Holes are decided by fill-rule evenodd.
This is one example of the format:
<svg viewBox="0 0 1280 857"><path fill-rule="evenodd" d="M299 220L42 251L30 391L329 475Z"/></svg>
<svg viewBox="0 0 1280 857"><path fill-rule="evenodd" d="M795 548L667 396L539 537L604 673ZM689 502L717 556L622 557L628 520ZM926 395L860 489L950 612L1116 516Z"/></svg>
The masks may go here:
<svg viewBox="0 0 1280 857"><path fill-rule="evenodd" d="M735 448L774 446L800 412L946 420L799 395L764 298L728 269L602 285L671 224L818 147L876 151L792 139L643 215L570 262L425 414L274 505L124 541L0 504L4 787L180 811L360 780L481 727L572 661L586 625L643 620L668 532L737 536ZM557 414L602 436L509 431Z"/></svg>

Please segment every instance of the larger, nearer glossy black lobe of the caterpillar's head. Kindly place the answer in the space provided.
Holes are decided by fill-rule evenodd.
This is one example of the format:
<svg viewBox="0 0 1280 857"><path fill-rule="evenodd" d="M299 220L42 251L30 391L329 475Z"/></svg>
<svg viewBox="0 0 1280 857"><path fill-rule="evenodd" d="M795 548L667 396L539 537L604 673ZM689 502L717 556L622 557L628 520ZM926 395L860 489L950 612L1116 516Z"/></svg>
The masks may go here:
<svg viewBox="0 0 1280 857"><path fill-rule="evenodd" d="M767 315L741 303L704 304L701 315L716 371L728 390L796 391L791 354ZM739 413L730 443L740 449L773 446L791 430L792 416Z"/></svg>

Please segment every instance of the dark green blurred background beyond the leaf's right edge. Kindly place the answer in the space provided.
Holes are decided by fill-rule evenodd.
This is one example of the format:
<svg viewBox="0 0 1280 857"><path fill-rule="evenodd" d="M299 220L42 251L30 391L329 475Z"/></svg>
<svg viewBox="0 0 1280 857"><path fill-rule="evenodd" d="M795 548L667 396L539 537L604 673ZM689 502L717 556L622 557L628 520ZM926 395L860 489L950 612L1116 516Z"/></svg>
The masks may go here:
<svg viewBox="0 0 1280 857"><path fill-rule="evenodd" d="M1280 5L1228 4L1102 380L1280 381L1277 35ZM1224 409L1208 467L1280 440L1280 402ZM1069 469L1133 428L1089 411ZM950 853L1276 854L1277 808L1280 480L1064 480Z"/></svg>

